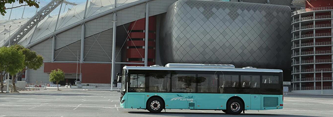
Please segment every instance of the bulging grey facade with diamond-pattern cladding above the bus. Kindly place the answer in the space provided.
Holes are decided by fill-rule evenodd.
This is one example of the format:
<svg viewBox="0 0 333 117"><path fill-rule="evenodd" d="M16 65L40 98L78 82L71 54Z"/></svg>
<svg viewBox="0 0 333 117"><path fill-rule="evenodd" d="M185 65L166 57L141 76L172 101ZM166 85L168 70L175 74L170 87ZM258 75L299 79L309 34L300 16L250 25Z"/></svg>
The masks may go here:
<svg viewBox="0 0 333 117"><path fill-rule="evenodd" d="M290 9L287 6L180 0L162 22L166 63L290 67Z"/></svg>

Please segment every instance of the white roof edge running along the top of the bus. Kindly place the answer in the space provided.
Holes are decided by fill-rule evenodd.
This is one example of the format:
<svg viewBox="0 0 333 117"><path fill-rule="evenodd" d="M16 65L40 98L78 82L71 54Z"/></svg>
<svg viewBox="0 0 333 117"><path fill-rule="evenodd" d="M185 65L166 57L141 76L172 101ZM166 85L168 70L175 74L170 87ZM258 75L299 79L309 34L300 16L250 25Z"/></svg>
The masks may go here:
<svg viewBox="0 0 333 117"><path fill-rule="evenodd" d="M229 72L274 72L282 73L279 69L257 69L257 68L191 68L191 67L141 67L141 66L124 66L128 70L178 70L178 71L229 71Z"/></svg>

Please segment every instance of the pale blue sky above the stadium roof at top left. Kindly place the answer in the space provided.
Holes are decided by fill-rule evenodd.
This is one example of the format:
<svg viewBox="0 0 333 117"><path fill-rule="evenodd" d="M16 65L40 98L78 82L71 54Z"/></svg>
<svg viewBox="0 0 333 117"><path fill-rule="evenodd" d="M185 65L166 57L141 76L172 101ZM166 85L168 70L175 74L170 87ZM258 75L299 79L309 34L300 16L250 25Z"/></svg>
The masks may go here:
<svg viewBox="0 0 333 117"><path fill-rule="evenodd" d="M43 8L45 5L47 5L48 3L51 2L51 0L37 0L37 1L39 1L39 9ZM75 4L84 4L84 3L86 3L85 0L66 0L66 1L71 2L71 3L75 3ZM6 4L6 7L10 8L10 7L12 7L12 5L13 4ZM20 5L18 4L18 2L15 2L13 6L15 7L15 6L20 6ZM63 8L61 8L61 12L66 12L68 10L68 8L72 8L72 7L73 7L72 5L63 4ZM54 11L51 12L50 15L51 16L52 15L57 15L59 13L59 9L60 9L60 7L57 7ZM65 11L64 11L64 9L65 9ZM25 8L24 7L15 8L15 9L12 10L11 15L10 15L10 10L6 10L6 11L7 11L7 13L5 14L5 16L0 15L0 20L8 20L9 16L10 16L10 19L20 19L20 18L22 18L22 14L23 14L23 18L30 18L33 15L35 15L36 8L35 7L29 7L29 6L26 6ZM23 13L23 11L24 11L24 13Z"/></svg>

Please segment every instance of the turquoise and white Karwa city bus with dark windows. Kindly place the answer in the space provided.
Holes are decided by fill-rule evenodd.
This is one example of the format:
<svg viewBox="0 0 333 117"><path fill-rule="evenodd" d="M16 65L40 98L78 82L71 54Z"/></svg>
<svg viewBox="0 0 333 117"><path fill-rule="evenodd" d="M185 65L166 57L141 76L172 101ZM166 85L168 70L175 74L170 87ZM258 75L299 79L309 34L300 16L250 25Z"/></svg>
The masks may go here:
<svg viewBox="0 0 333 117"><path fill-rule="evenodd" d="M125 66L121 79L120 107L147 109L245 110L283 108L283 71L235 68L220 64L166 64Z"/></svg>

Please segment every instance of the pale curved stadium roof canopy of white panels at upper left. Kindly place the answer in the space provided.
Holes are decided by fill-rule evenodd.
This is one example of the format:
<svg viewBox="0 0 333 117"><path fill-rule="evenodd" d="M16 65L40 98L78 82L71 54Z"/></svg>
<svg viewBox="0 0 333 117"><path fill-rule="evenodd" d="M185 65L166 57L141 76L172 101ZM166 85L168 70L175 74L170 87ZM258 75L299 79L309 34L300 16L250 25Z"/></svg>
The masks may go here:
<svg viewBox="0 0 333 117"><path fill-rule="evenodd" d="M86 18L92 17L94 15L103 13L105 11L114 8L114 0L88 0ZM127 5L140 0L117 0L117 7ZM23 46L40 40L41 38L52 34L55 31L61 30L73 23L79 22L84 19L86 9L86 3L73 6L72 8L67 8L67 12L61 12L59 20L57 20L58 15L47 16L41 20L37 26L33 28L22 40L18 42ZM60 10L60 9L59 9ZM59 10L54 10L52 12L58 13ZM23 19L13 19L13 20L2 20L0 21L0 45L3 45L8 41L10 36L23 26L29 18ZM56 24L56 22L58 22ZM57 26L56 26L57 25ZM56 29L55 29L56 27Z"/></svg>

